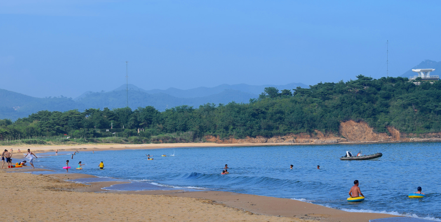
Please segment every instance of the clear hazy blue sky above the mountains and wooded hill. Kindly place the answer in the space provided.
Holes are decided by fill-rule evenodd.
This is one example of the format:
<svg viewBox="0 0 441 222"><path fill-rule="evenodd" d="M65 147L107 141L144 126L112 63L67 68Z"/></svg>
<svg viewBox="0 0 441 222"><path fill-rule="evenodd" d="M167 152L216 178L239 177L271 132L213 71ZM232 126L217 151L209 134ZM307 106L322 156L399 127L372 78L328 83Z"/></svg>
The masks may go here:
<svg viewBox="0 0 441 222"><path fill-rule="evenodd" d="M356 2L356 3L354 3ZM76 97L399 76L441 60L441 1L0 1L0 88ZM430 67L428 67L430 68Z"/></svg>

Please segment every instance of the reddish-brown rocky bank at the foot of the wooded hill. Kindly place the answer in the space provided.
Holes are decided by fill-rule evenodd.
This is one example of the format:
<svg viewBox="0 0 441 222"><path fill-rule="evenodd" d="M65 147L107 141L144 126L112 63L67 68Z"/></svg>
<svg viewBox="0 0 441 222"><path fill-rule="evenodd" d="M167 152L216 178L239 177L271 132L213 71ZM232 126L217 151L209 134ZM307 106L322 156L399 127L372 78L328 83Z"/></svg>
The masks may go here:
<svg viewBox="0 0 441 222"><path fill-rule="evenodd" d="M277 143L277 144L333 144L333 143L354 143L354 142L430 142L441 141L441 133L424 135L403 134L396 128L388 126L388 133L375 132L366 122L349 120L341 122L338 135L325 134L315 130L312 133L289 134L265 138L263 136L247 137L243 139L224 138L219 136L206 136L207 142L216 143Z"/></svg>

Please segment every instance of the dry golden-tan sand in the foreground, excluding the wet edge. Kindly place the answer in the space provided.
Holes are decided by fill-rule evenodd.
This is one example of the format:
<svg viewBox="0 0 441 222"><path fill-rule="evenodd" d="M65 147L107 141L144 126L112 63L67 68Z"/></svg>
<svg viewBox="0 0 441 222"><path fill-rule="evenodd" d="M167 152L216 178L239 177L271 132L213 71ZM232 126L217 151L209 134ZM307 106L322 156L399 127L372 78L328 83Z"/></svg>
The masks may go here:
<svg viewBox="0 0 441 222"><path fill-rule="evenodd" d="M2 170L0 176L4 200L0 221L304 221L252 215L210 200L188 197L72 192L87 185L63 182L47 175Z"/></svg>

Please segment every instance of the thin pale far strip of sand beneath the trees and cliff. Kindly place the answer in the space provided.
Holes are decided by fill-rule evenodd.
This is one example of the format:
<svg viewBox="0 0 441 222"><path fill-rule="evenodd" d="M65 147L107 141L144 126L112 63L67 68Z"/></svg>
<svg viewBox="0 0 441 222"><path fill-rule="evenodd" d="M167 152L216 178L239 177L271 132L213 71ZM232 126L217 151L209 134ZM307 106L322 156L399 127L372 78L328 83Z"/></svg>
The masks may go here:
<svg viewBox="0 0 441 222"><path fill-rule="evenodd" d="M441 141L414 141L414 142L441 142ZM338 142L338 143L215 143L215 142L198 142L198 143L148 143L148 144L119 144L119 143L105 143L105 144L82 144L82 145L43 145L43 146L0 146L0 149L13 149L11 153L26 153L27 149L31 149L33 153L46 153L58 151L105 151L105 150L123 150L123 149L170 149L170 148L204 148L204 147L229 147L229 146L314 146L314 145L357 145L357 144L377 144L377 143L407 143L406 141L394 142Z"/></svg>

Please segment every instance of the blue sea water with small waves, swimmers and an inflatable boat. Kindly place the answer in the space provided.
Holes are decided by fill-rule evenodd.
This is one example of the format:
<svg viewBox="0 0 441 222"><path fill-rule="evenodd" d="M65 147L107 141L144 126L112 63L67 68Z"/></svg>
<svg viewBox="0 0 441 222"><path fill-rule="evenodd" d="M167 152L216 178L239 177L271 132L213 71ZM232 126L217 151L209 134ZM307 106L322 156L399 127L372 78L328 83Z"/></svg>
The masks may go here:
<svg viewBox="0 0 441 222"><path fill-rule="evenodd" d="M107 189L142 190L155 184L164 189L223 190L292 198L346 211L385 212L441 221L440 147L441 143L431 142L80 151L73 160L73 152L59 152L58 156L45 153L34 159L34 164L63 171L61 167L70 160L69 172L105 177L102 180L133 181ZM339 160L346 150L363 150L366 155L380 152L383 157ZM145 154L153 155L154 160L147 160ZM86 164L82 171L75 170L78 161ZM101 161L105 170L98 169ZM225 164L230 167L229 175L221 175ZM289 169L290 164L294 169ZM360 181L366 200L348 203L346 198L355 179ZM429 197L407 198L418 186Z"/></svg>

